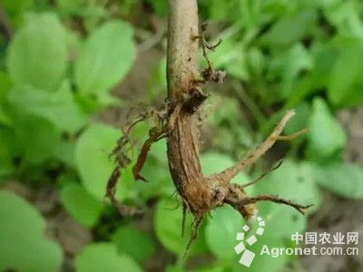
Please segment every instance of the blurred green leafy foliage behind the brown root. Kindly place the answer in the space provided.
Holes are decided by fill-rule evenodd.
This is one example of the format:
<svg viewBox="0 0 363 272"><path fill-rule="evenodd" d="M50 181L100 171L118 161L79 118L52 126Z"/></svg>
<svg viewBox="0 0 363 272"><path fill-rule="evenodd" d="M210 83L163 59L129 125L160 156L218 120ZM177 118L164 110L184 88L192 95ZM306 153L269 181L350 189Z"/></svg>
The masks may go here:
<svg viewBox="0 0 363 272"><path fill-rule="evenodd" d="M222 87L209 87L203 170L230 166L295 108L286 132L308 126L309 134L279 145L234 182L252 180L283 156L282 167L252 187L251 195L315 203L310 213L319 209L321 189L363 199L363 169L343 160L348 138L335 117L363 104L362 2L199 4L211 40L223 40L211 59L228 73ZM240 271L233 248L243 220L230 207L211 213L190 257L182 258L190 229L182 238L164 141L152 147L143 170L151 182L135 182L126 169L117 188L117 199L147 207L147 215L121 218L104 201L113 169L108 154L124 121L111 121L103 112L127 112L139 102L164 98L166 1L3 0L0 7L0 270L142 271L156 259L164 263L154 269L166 271ZM153 52L158 63L148 73L147 88L120 94L142 50L159 52ZM148 129L144 124L133 132L139 145ZM91 238L67 252L62 241L44 234L52 215L42 214L34 197L9 191L14 180L33 196L55 191L58 209ZM259 208L267 221L262 241L271 247L286 245L292 233L307 227L308 219L293 209L270 203ZM259 257L249 271L281 271L291 261L296 260Z"/></svg>

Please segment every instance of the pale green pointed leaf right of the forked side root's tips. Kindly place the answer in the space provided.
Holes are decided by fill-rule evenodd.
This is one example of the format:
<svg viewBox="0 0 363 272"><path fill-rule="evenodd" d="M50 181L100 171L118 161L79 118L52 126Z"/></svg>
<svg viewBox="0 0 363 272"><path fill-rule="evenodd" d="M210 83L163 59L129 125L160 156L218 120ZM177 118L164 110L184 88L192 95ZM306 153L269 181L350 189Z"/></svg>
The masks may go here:
<svg viewBox="0 0 363 272"><path fill-rule="evenodd" d="M309 129L307 151L309 157L329 158L340 151L347 141L341 125L329 112L328 105L320 98L315 98L313 101Z"/></svg>

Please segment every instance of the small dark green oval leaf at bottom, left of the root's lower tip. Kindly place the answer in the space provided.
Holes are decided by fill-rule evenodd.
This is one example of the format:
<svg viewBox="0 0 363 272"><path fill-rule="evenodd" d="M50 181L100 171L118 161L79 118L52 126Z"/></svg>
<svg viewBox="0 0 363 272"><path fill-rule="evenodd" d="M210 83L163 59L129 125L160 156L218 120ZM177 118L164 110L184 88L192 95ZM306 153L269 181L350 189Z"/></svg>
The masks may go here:
<svg viewBox="0 0 363 272"><path fill-rule="evenodd" d="M118 228L113 234L113 243L120 252L130 255L139 262L148 259L155 252L152 238L137 228Z"/></svg>

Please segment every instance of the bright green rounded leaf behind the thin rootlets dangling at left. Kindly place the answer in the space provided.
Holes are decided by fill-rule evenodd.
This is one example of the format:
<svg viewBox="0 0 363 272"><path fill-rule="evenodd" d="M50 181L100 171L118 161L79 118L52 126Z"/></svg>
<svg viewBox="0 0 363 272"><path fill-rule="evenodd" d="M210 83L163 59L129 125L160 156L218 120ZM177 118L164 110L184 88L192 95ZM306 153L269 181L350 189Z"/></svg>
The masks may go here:
<svg viewBox="0 0 363 272"><path fill-rule="evenodd" d="M107 181L113 171L113 160L108 155L121 137L121 131L95 123L83 132L75 149L75 160L84 188L96 199L103 200ZM116 197L124 199L133 182L130 169L123 170L122 182L117 183Z"/></svg>

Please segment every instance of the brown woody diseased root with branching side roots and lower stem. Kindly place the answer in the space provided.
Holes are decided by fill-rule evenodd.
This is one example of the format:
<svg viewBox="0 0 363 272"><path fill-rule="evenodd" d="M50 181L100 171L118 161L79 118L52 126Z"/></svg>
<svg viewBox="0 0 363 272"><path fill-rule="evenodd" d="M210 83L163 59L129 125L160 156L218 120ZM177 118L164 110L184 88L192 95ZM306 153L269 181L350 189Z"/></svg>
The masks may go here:
<svg viewBox="0 0 363 272"><path fill-rule="evenodd" d="M182 6L185 5L186 2L186 0L171 1L170 4ZM189 4L191 5L191 3ZM192 2L192 8L195 8L194 5L196 5L196 2ZM178 13L172 14L172 16L175 16L172 17L173 19L181 19L178 17L180 13L182 11L189 11L189 9L183 9L181 6L179 6L181 9ZM253 180L244 185L231 183L231 179L233 179L240 170L243 170L255 163L256 160L259 160L261 156L270 150L276 141L290 141L308 131L307 129L304 129L290 135L281 135L281 132L287 122L295 114L293 111L286 112L281 121L270 133L270 136L254 151L251 151L246 159L240 160L235 165L221 171L220 173L209 177L205 177L203 175L199 158L197 137L194 135L196 132L194 114L198 113L201 105L208 98L208 95L202 91L204 83L221 83L225 76L224 72L216 72L213 70L212 63L209 60L207 53L207 50L213 51L219 44L221 44L221 41L214 45L208 44L204 38L205 27L205 24L201 26L201 35L198 35L198 33L195 35L195 33L192 33L191 31L190 35L185 34L182 36L185 38L182 42L178 39L181 44L192 44L191 51L195 53L195 56L191 57L189 51L184 54L177 53L177 51L174 50L175 46L173 45L169 47L169 49L172 48L168 51L168 88L172 89L168 90L168 92L169 99L171 101L162 112L159 111L156 112L156 114L154 112L154 114L140 115L139 118L133 121L127 130L124 131L123 138L117 142L117 147L111 154L116 163L116 167L109 179L106 190L106 196L111 199L113 205L115 205L121 212L126 212L127 210L125 206L114 199L114 190L117 180L120 178L121 170L130 164L131 161L126 156L126 146L132 146L132 142L129 139L129 132L138 122L150 118L150 116L155 117L156 125L149 131L149 138L142 145L142 149L136 163L132 167L132 174L135 180L146 181L146 179L142 176L141 171L147 158L147 154L151 149L152 143L159 141L162 138L167 138L169 169L172 174L174 185L178 190L179 195L182 197L182 235L184 233L186 212L191 212L194 219L191 226L191 238L187 244L185 254L191 246L191 242L197 238L198 228L201 226L204 214L208 214L211 210L221 207L224 204L229 204L232 208L238 210L242 217L246 220L250 219L256 213L256 202L258 201L272 201L288 205L297 209L301 214L304 214L305 209L309 209L309 207L312 206L300 205L291 200L282 199L278 196L259 195L256 197L249 197L246 194L246 187L262 180L264 176L280 167L281 162L278 163L276 167L273 167L266 173L262 174L257 180ZM187 28L187 30L189 31L190 28ZM170 34L171 33L172 32L170 32ZM196 78L199 77L199 75L196 75L198 71L196 71L197 73L194 73L196 69L193 69L193 73L189 73L190 69L182 69L179 65L180 63L178 63L178 65L175 64L177 57L182 56L178 59L178 62L184 62L185 67L183 68L190 68L190 65L193 65L192 67L194 68L197 66L197 57L195 52L197 44L194 43L196 39L201 41L203 56L208 64L208 66L201 72L201 79ZM169 42L175 41L173 39L169 39ZM181 44L179 44L179 46L183 46ZM179 50L182 49L179 48ZM191 60L192 62L190 62ZM128 212L136 213L136 210L128 210Z"/></svg>

